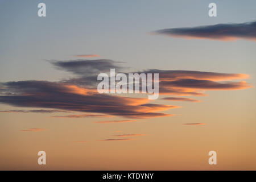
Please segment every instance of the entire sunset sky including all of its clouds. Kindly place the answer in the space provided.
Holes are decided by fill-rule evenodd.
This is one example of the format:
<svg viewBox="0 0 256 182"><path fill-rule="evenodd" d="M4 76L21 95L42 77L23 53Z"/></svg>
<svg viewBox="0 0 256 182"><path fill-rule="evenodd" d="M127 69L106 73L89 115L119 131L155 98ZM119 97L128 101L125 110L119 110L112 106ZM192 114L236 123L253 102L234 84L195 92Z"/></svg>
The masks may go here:
<svg viewBox="0 0 256 182"><path fill-rule="evenodd" d="M256 169L255 1L0 3L1 170ZM98 94L110 68L158 100Z"/></svg>

